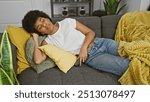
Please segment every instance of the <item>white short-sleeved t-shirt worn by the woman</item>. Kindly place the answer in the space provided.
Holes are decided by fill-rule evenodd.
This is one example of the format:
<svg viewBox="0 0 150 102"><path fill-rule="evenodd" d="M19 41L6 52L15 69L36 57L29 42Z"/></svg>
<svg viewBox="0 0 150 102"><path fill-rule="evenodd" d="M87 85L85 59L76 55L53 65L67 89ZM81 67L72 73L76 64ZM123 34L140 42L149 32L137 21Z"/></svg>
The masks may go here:
<svg viewBox="0 0 150 102"><path fill-rule="evenodd" d="M79 54L85 35L76 29L76 20L65 18L58 22L58 24L58 31L52 35L48 35L45 41L48 44L60 47L65 51Z"/></svg>

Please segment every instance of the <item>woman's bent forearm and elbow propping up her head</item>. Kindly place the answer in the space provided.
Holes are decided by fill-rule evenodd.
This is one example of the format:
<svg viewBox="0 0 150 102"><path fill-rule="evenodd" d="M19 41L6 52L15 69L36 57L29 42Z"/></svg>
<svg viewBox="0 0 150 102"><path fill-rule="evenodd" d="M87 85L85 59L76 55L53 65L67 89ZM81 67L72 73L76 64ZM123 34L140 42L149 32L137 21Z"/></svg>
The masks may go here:
<svg viewBox="0 0 150 102"><path fill-rule="evenodd" d="M40 51L38 49L39 44L38 44L38 35L33 33L32 34L33 40L34 40L34 52L33 52L33 57L34 57L34 62L36 64L42 63L46 59L45 53ZM42 45L47 44L45 41L42 42Z"/></svg>

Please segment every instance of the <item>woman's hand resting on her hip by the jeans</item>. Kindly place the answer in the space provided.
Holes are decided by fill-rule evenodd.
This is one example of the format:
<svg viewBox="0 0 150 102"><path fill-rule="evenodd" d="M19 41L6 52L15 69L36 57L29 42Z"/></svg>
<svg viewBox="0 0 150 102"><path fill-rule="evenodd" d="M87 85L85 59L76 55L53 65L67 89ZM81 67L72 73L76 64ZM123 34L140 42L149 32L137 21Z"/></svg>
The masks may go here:
<svg viewBox="0 0 150 102"><path fill-rule="evenodd" d="M80 66L82 63L85 62L85 60L87 59L87 48L86 47L82 47L81 50L80 50L80 53L79 53L79 56L78 56L78 60L80 61Z"/></svg>

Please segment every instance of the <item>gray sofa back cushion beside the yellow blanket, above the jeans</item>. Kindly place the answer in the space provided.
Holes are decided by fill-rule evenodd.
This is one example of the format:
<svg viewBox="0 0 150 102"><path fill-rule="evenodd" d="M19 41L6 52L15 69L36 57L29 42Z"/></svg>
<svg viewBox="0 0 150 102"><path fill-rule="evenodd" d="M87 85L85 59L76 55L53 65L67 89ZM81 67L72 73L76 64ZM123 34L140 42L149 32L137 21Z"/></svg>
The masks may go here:
<svg viewBox="0 0 150 102"><path fill-rule="evenodd" d="M114 39L117 24L122 15L102 16L102 38Z"/></svg>

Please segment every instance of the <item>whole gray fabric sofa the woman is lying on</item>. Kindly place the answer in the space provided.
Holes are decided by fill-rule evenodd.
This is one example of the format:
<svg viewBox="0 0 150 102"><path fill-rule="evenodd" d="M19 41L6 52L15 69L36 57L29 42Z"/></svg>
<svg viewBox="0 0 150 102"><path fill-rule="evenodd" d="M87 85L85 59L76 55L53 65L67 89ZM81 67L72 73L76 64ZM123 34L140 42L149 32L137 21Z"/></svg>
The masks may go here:
<svg viewBox="0 0 150 102"><path fill-rule="evenodd" d="M120 15L103 17L75 17L77 20L92 28L97 37L114 38L115 30L120 19ZM53 18L56 22L63 18ZM0 34L0 39L1 39ZM17 59L16 48L12 46L13 64L16 72ZM106 62L107 63L107 62ZM27 68L21 74L17 75L21 85L116 85L119 76L102 72L87 65L81 67L72 67L67 74L61 72L57 67L50 68L37 74L33 68Z"/></svg>

